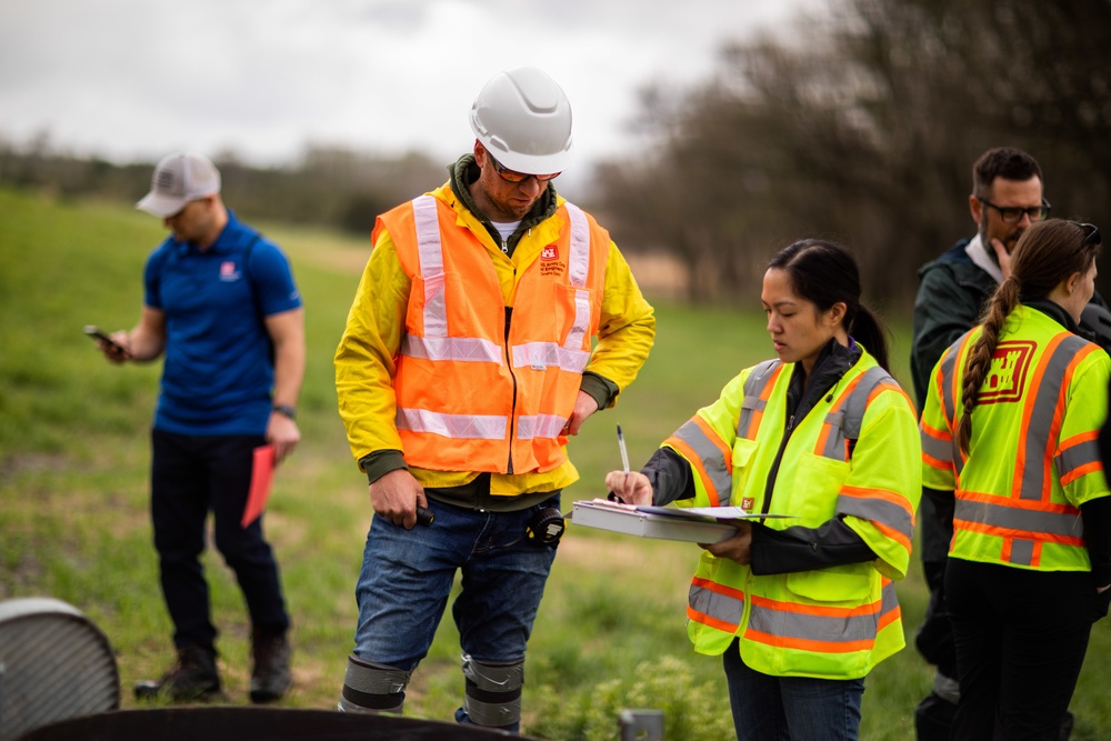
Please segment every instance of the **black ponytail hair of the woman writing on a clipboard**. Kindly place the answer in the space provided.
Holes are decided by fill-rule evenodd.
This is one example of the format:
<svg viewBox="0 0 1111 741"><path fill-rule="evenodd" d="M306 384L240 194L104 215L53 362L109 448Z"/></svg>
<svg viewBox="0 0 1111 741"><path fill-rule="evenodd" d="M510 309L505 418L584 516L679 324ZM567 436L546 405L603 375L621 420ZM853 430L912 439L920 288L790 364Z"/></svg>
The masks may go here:
<svg viewBox="0 0 1111 741"><path fill-rule="evenodd" d="M794 292L819 311L844 303L841 323L845 332L860 340L883 370L890 371L883 324L860 302L860 270L849 250L820 239L803 239L780 250L768 268L785 272Z"/></svg>

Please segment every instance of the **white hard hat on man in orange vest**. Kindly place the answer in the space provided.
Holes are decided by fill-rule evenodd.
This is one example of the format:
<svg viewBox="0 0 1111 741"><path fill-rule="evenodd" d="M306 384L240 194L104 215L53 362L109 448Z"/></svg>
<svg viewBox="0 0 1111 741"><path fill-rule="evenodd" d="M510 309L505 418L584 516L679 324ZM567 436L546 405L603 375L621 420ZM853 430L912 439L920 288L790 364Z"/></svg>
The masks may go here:
<svg viewBox="0 0 1111 741"><path fill-rule="evenodd" d="M487 82L471 106L471 129L510 170L549 174L571 161L571 103L536 67L499 72Z"/></svg>

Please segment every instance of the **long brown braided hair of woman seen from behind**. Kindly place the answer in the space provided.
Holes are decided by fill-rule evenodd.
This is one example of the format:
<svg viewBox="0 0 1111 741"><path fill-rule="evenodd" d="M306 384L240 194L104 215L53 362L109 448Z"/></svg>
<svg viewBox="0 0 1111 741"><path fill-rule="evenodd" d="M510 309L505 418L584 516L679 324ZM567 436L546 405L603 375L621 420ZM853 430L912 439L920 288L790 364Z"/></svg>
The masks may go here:
<svg viewBox="0 0 1111 741"><path fill-rule="evenodd" d="M964 362L963 417L957 428L957 441L965 454L972 440L972 410L991 370L991 357L999 346L999 333L1008 314L1020 300L1044 299L1061 281L1073 273L1088 271L1100 250L1098 242L1084 243L1089 233L1075 221L1049 219L1031 224L1014 246L1011 274L992 294L980 323L980 337Z"/></svg>

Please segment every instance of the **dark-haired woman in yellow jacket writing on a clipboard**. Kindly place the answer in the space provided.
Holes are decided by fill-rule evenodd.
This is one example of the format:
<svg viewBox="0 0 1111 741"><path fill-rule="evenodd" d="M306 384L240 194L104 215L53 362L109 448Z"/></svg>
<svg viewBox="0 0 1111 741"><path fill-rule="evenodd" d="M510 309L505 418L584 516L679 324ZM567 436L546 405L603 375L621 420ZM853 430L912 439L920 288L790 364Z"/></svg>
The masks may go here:
<svg viewBox="0 0 1111 741"><path fill-rule="evenodd" d="M785 248L761 301L778 357L605 484L634 504L794 515L703 545L688 634L722 655L738 738L855 739L864 677L904 645L892 580L910 562L918 422L844 248Z"/></svg>

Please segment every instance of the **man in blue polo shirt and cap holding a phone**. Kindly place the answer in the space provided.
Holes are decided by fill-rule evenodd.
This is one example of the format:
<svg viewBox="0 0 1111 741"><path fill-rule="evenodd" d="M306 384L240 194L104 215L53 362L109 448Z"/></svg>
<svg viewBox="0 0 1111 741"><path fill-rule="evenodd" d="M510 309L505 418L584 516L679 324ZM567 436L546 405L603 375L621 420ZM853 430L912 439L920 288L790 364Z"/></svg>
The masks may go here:
<svg viewBox="0 0 1111 741"><path fill-rule="evenodd" d="M217 630L200 554L213 512L216 545L236 572L251 619L250 697L280 698L291 684L290 620L261 518L241 525L254 449L288 455L304 375L304 317L279 248L236 219L220 198L220 173L199 154L159 162L137 208L161 217L170 236L147 259L142 313L130 331L101 342L109 360L164 356L151 432L151 518L177 661L140 699L220 693Z"/></svg>

